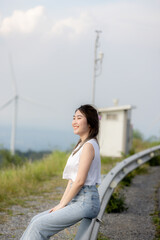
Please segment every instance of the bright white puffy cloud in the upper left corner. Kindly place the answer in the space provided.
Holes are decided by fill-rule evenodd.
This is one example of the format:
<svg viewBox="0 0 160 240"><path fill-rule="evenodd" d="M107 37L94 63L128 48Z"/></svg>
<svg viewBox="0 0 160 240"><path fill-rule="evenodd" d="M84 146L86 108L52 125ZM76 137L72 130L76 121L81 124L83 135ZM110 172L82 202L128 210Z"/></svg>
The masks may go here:
<svg viewBox="0 0 160 240"><path fill-rule="evenodd" d="M10 17L6 17L1 21L0 34L31 33L35 30L43 15L43 6L37 6L27 11L15 10Z"/></svg>

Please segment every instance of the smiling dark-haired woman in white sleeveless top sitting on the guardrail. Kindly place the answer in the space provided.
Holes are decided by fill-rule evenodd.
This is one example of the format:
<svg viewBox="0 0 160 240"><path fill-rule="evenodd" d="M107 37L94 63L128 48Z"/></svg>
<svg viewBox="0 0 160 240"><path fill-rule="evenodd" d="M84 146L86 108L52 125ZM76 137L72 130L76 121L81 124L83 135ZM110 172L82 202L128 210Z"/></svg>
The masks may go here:
<svg viewBox="0 0 160 240"><path fill-rule="evenodd" d="M96 185L101 182L101 162L97 134L98 113L91 105L76 109L72 127L80 136L68 158L63 178L68 179L60 203L31 220L21 240L45 240L82 218L95 218L100 209Z"/></svg>

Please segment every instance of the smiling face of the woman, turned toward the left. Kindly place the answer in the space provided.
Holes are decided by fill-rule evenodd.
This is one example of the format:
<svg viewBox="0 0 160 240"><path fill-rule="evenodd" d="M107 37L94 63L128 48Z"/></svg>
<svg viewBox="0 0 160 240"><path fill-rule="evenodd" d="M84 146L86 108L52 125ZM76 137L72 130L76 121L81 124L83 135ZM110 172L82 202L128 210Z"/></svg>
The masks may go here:
<svg viewBox="0 0 160 240"><path fill-rule="evenodd" d="M72 127L74 134L79 135L82 141L88 137L90 126L87 123L85 115L79 110L73 116Z"/></svg>

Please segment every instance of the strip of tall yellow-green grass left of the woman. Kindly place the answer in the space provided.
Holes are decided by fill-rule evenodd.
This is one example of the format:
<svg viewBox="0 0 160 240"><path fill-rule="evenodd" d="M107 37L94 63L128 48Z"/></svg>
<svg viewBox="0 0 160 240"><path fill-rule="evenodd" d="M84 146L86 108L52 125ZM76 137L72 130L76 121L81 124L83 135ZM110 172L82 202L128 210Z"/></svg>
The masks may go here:
<svg viewBox="0 0 160 240"><path fill-rule="evenodd" d="M67 157L66 153L56 151L43 160L0 170L0 208L15 202L17 197L42 191L45 182L62 174Z"/></svg>

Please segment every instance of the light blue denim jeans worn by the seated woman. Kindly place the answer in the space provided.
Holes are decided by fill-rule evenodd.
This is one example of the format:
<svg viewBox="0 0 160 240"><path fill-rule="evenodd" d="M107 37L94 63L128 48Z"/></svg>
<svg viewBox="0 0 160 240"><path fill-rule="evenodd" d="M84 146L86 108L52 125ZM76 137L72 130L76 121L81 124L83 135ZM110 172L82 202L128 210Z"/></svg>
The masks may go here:
<svg viewBox="0 0 160 240"><path fill-rule="evenodd" d="M49 239L82 218L95 218L99 209L96 186L85 185L66 207L51 213L47 210L33 217L21 240Z"/></svg>

